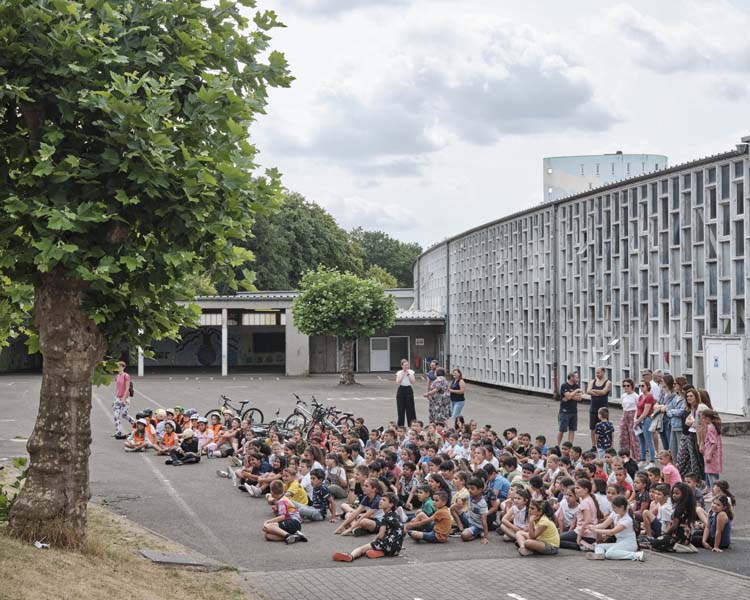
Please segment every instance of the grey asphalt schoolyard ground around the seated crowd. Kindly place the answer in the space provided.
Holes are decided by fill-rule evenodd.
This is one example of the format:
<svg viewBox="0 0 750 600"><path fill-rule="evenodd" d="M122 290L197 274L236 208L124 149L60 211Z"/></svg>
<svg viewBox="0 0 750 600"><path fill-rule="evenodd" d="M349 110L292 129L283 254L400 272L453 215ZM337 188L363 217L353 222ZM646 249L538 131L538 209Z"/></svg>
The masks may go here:
<svg viewBox="0 0 750 600"><path fill-rule="evenodd" d="M220 394L226 394L234 400L251 399L268 419L277 409L281 416L289 414L294 407L292 394L297 393L303 398L314 394L326 404L361 415L370 427L395 419L395 384L386 376L360 375L358 380L361 385L340 387L335 376L147 375L144 379L134 378L136 395L131 413L146 407L175 404L195 407L203 413L218 405ZM33 429L39 386L40 377L36 375L0 377L0 461L25 454L24 441ZM750 523L746 508L750 498L750 464L747 461L750 438L747 437L724 438L725 472L722 476L730 481L738 497L738 507L733 547L723 554L701 551L695 555L659 556L648 553L646 565L610 561L592 565L580 553L570 551L562 551L553 559L523 560L512 544L492 536L487 546L455 539L447 546L406 540L398 558L362 559L342 565L331 561L331 554L348 551L365 543L367 538L340 538L333 534L335 525L321 522L304 525L304 532L310 539L308 544L286 546L264 542L261 525L269 518L270 509L264 500L249 498L234 489L231 482L215 475L216 469L226 466L226 459L204 459L197 465L176 468L165 465L164 457L151 453L123 452L122 443L111 437L112 397L112 386L94 390L92 500L211 558L240 568L248 587L268 598L288 598L297 592L315 598L319 587L316 582L324 588L320 590L321 598L350 598L358 590L366 589L362 586L370 580L390 580L392 592L383 590L383 593L387 597L410 600L453 598L458 593L454 587L457 582L467 592L474 588L485 592L498 590L499 581L503 584L503 597L546 598L550 596L540 595L539 589L551 590L549 586L555 585L562 586L556 588L556 598L621 600L639 591L653 593L652 577L656 575L663 584L664 594L661 595L664 598L700 593L704 588L706 594L713 593L716 589L712 591L711 585L718 585L727 593L750 596L748 580L727 578L730 574L750 576ZM420 418L426 417L425 402L417 400ZM587 407L580 407L579 411L579 420L585 426ZM490 423L498 431L515 426L519 431L527 430L533 436L543 433L548 440L553 440L557 404L539 396L470 384L464 415L467 420L476 419L480 425ZM615 422L619 419L618 409L612 409L611 418ZM576 441L585 447L588 432L579 433ZM539 560L553 562L545 562L545 568L540 569ZM557 566L549 568L551 564ZM356 571L350 572L350 569ZM527 570L528 577L522 576ZM488 576L490 572L493 574ZM605 574L626 588L604 585ZM280 582L284 584L281 587ZM685 582L690 585L683 590ZM623 593L624 589L627 594Z"/></svg>

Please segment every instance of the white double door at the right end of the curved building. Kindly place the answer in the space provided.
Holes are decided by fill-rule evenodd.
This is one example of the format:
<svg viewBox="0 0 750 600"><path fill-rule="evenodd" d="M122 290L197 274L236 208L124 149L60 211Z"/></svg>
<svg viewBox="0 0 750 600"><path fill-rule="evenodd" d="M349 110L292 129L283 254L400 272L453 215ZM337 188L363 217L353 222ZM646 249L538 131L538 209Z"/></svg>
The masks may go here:
<svg viewBox="0 0 750 600"><path fill-rule="evenodd" d="M718 412L742 414L745 390L739 340L706 340L706 389Z"/></svg>

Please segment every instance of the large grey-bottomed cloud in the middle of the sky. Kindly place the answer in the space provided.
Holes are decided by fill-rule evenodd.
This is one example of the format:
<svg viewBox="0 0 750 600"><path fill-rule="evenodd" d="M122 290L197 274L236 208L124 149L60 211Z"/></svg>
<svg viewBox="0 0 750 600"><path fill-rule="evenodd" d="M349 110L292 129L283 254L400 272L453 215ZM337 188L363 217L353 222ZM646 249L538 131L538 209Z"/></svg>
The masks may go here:
<svg viewBox="0 0 750 600"><path fill-rule="evenodd" d="M369 85L356 75L323 82L308 131L278 131L272 148L358 175L418 175L453 140L492 145L508 134L602 131L617 121L586 69L529 27L432 19L402 29L392 47Z"/></svg>

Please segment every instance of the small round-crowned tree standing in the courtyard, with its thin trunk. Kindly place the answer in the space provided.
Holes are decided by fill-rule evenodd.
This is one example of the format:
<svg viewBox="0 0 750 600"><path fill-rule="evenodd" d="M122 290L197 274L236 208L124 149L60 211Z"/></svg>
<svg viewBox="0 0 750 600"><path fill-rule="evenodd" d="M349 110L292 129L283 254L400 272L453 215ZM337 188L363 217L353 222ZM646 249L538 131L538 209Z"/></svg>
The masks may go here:
<svg viewBox="0 0 750 600"><path fill-rule="evenodd" d="M301 293L294 300L294 323L307 335L333 335L343 340L341 383L354 381L354 343L396 320L396 301L374 279L360 279L318 267L302 278Z"/></svg>

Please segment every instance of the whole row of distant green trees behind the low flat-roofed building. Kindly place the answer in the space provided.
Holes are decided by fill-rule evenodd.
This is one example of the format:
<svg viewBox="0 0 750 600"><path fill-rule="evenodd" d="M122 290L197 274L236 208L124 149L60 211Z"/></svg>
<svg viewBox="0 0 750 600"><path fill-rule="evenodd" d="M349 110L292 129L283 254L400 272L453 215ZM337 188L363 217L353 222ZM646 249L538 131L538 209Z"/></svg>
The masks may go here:
<svg viewBox="0 0 750 600"><path fill-rule="evenodd" d="M422 253L419 244L382 231L347 232L298 193L285 194L278 210L255 215L246 247L255 255L254 285L260 290L297 289L304 273L319 265L375 279L386 288L412 287L412 265ZM219 291L229 290L219 286Z"/></svg>

